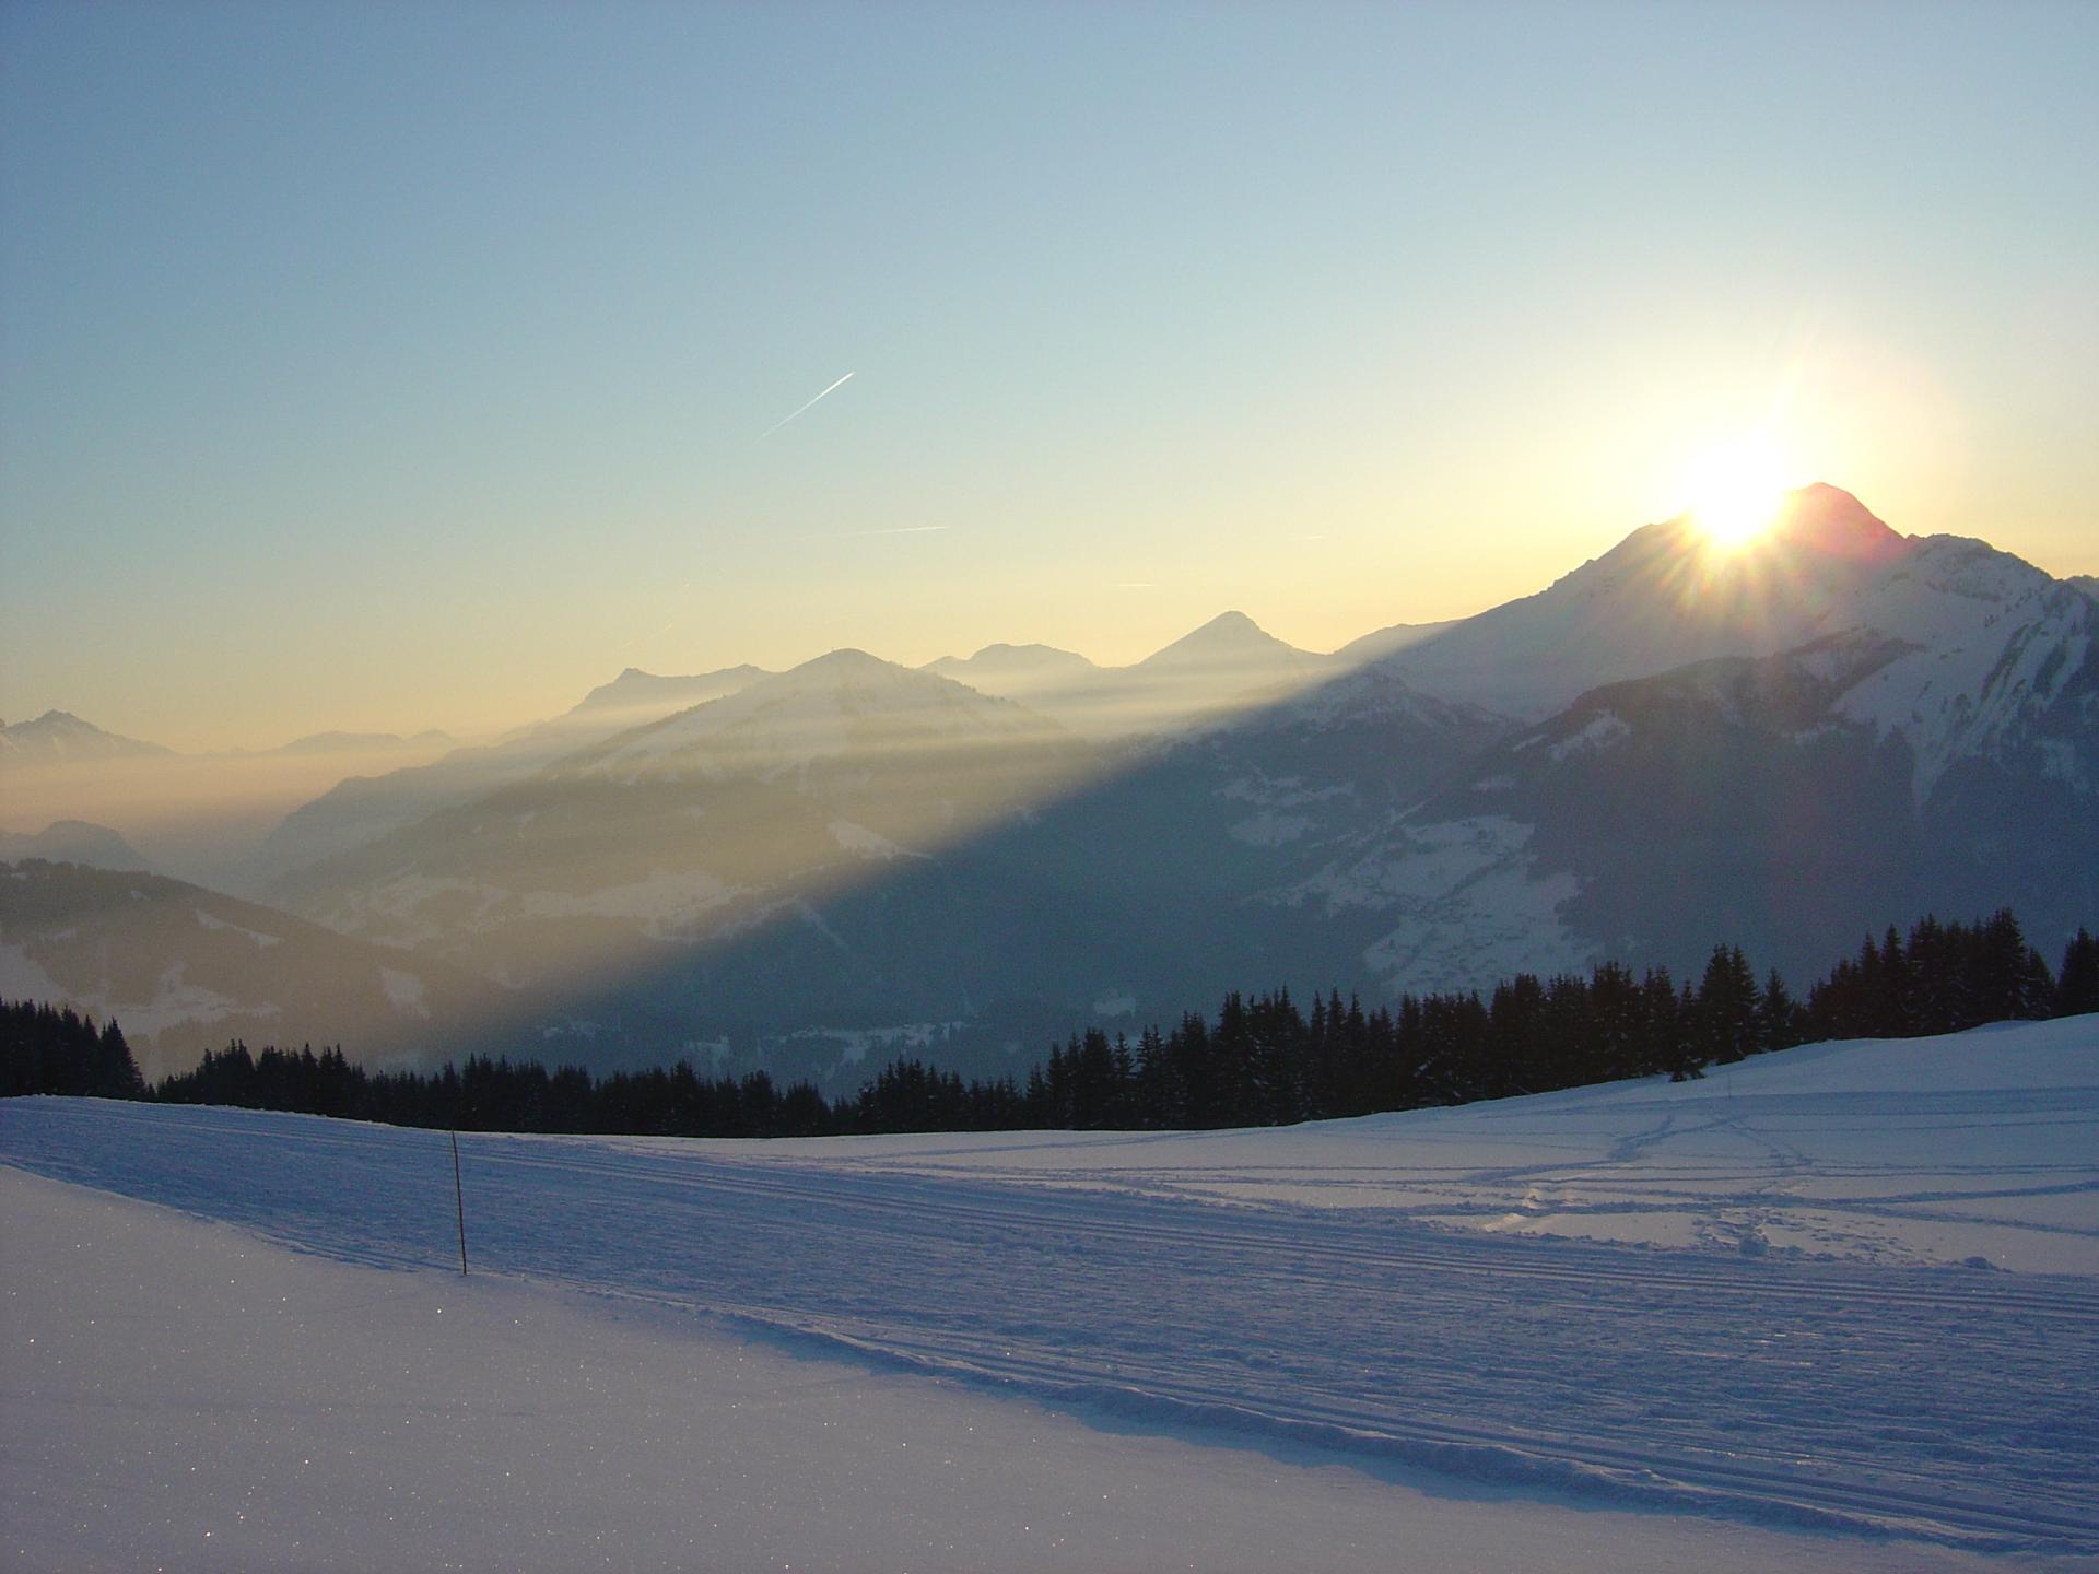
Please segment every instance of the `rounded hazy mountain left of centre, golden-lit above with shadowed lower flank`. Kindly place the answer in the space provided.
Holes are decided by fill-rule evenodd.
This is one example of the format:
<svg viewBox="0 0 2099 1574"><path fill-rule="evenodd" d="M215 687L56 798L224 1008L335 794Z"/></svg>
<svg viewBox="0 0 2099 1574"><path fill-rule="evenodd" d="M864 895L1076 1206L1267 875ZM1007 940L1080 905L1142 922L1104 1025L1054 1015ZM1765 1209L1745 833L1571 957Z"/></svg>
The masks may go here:
<svg viewBox="0 0 2099 1574"><path fill-rule="evenodd" d="M441 808L285 896L344 934L563 991L560 1054L600 1064L747 1024L955 1016L949 959L987 913L890 900L894 875L945 867L1091 768L1012 701L833 651ZM888 917L833 921L861 888Z"/></svg>

